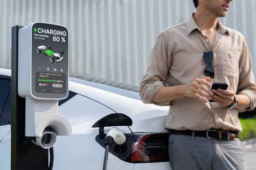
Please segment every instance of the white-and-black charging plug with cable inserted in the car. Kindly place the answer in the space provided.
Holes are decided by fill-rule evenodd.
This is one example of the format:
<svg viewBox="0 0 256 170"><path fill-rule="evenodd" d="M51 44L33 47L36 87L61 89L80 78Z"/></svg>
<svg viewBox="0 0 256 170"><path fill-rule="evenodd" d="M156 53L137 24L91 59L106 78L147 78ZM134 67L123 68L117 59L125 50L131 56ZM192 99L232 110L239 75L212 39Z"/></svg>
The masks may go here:
<svg viewBox="0 0 256 170"><path fill-rule="evenodd" d="M126 137L123 135L123 133L116 127L112 128L104 140L105 145L105 154L104 154L104 161L103 161L103 170L107 169L107 161L108 161L108 152L109 148L115 141L118 145L121 145L125 142Z"/></svg>

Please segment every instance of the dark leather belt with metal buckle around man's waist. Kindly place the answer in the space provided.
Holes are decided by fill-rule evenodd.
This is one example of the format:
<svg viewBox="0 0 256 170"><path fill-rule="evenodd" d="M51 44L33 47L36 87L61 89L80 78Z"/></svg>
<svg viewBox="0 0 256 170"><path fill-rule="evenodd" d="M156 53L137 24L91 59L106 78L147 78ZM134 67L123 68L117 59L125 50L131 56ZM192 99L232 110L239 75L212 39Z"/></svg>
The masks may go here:
<svg viewBox="0 0 256 170"><path fill-rule="evenodd" d="M218 140L235 140L235 138L239 137L238 132L236 131L223 131L223 130L215 130L210 129L207 131L194 131L194 136L198 137L207 137L209 139L218 139ZM192 136L193 131L191 130L169 130L170 135L187 135Z"/></svg>

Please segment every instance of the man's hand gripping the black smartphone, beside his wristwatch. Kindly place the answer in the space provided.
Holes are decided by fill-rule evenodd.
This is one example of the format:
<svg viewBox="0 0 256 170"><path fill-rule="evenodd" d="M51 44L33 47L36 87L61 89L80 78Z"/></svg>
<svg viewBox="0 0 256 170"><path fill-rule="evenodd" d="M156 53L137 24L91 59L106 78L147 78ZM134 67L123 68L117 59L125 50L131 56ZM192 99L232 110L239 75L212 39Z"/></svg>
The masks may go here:
<svg viewBox="0 0 256 170"><path fill-rule="evenodd" d="M213 95L211 95L212 100L218 102L222 107L230 105L234 101L235 92L228 86L227 90L218 88L212 89Z"/></svg>

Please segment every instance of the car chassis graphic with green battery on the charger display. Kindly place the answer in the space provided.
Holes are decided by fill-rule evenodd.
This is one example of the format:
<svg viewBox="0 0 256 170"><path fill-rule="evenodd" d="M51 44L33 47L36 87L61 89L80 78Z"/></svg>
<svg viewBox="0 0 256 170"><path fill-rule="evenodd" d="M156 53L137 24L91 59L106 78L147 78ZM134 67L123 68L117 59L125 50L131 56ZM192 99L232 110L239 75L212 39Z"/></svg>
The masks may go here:
<svg viewBox="0 0 256 170"><path fill-rule="evenodd" d="M63 59L63 51L59 51L59 52L56 52L56 51L53 51L51 46L39 46L37 48L37 53L40 54L44 54L45 56L48 57L48 60L50 63L54 63L54 62L60 62L62 61Z"/></svg>

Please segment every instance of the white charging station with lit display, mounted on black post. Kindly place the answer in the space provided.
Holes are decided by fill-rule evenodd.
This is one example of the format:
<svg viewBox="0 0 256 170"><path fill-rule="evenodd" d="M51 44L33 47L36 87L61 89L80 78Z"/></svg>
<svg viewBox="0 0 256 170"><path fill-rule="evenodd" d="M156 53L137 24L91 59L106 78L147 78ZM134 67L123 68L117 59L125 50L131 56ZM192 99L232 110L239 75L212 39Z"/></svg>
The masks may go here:
<svg viewBox="0 0 256 170"><path fill-rule="evenodd" d="M15 41L12 42L15 49L12 49L12 60L15 60L12 61L12 81L18 78L18 89L14 91L25 100L24 123L20 123L24 127L16 127L16 130L24 128L24 141L31 145L50 149L57 136L68 136L72 131L67 119L58 114L58 101L68 96L68 30L61 25L42 22L12 29L16 31L12 30L12 40ZM13 102L14 98L12 95L12 104L17 104L18 101ZM18 112L16 110L19 117ZM12 110L12 117L14 115Z"/></svg>

